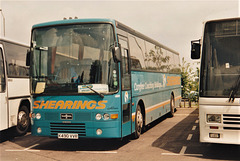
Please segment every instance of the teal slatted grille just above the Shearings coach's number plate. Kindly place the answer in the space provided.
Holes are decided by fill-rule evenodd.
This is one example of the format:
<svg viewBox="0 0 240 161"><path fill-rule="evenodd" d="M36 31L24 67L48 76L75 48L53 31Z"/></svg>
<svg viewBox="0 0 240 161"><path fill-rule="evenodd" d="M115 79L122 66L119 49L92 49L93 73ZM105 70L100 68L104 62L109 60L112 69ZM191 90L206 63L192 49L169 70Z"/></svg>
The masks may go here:
<svg viewBox="0 0 240 161"><path fill-rule="evenodd" d="M78 136L86 136L84 123L50 123L51 136L57 137L58 133L74 133Z"/></svg>

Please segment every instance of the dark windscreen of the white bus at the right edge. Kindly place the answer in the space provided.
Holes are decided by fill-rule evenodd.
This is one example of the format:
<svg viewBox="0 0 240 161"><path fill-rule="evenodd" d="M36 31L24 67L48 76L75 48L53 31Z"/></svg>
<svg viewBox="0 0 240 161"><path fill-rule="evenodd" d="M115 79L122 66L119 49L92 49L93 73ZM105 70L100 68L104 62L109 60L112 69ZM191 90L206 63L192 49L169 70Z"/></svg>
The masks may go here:
<svg viewBox="0 0 240 161"><path fill-rule="evenodd" d="M240 75L240 21L208 23L203 44L202 96L229 97ZM240 92L237 92L237 96Z"/></svg>

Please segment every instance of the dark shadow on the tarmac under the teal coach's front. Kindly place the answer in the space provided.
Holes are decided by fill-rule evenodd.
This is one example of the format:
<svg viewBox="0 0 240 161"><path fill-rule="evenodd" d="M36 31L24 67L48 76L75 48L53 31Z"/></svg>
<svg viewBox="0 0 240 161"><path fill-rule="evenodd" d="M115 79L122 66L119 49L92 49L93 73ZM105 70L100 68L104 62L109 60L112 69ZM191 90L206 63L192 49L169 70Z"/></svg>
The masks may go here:
<svg viewBox="0 0 240 161"><path fill-rule="evenodd" d="M31 135L15 137L10 140L21 147L34 146L32 150L51 151L113 151L121 148L131 140L129 137L120 139L79 139L59 140L47 137L35 137Z"/></svg>

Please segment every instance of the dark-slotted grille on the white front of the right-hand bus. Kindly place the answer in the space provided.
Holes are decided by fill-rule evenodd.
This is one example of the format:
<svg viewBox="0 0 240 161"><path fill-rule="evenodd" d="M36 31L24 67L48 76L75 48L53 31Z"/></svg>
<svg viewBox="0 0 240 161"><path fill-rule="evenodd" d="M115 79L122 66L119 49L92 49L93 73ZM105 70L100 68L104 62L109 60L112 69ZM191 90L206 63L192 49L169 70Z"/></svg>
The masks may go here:
<svg viewBox="0 0 240 161"><path fill-rule="evenodd" d="M223 124L225 130L240 130L240 115L223 114Z"/></svg>

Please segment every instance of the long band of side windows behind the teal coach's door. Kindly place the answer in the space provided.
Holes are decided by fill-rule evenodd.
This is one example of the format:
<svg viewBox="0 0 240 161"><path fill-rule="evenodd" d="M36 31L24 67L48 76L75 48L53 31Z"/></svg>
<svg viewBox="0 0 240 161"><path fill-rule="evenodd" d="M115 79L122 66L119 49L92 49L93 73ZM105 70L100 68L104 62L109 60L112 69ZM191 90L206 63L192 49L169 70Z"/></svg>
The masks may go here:
<svg viewBox="0 0 240 161"><path fill-rule="evenodd" d="M179 55L160 45L129 36L132 69L179 73Z"/></svg>

